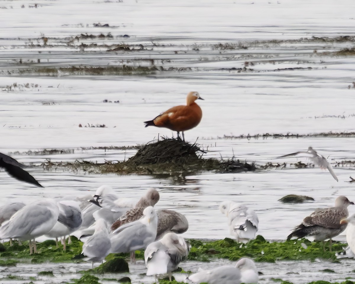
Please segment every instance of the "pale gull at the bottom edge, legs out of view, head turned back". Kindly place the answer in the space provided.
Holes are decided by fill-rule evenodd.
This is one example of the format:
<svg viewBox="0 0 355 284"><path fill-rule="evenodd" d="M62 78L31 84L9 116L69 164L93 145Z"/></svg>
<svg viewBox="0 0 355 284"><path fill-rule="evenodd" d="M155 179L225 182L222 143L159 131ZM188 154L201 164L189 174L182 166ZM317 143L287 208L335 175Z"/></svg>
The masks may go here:
<svg viewBox="0 0 355 284"><path fill-rule="evenodd" d="M211 270L202 270L190 275L187 279L193 283L209 284L256 284L258 272L255 263L249 258L241 258L235 266L224 265Z"/></svg>

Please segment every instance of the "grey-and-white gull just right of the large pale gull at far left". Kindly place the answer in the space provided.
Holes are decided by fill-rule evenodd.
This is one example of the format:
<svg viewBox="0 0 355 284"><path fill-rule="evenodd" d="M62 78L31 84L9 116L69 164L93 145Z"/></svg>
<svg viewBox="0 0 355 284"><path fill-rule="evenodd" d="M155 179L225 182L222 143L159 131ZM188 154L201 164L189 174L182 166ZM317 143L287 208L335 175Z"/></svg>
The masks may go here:
<svg viewBox="0 0 355 284"><path fill-rule="evenodd" d="M46 234L47 237L54 237L56 246L58 247L58 238L62 238L63 250L66 249L65 236L69 236L68 244L70 244L70 234L80 228L83 220L79 204L71 200L63 200L57 203L59 208L58 220L53 228Z"/></svg>

